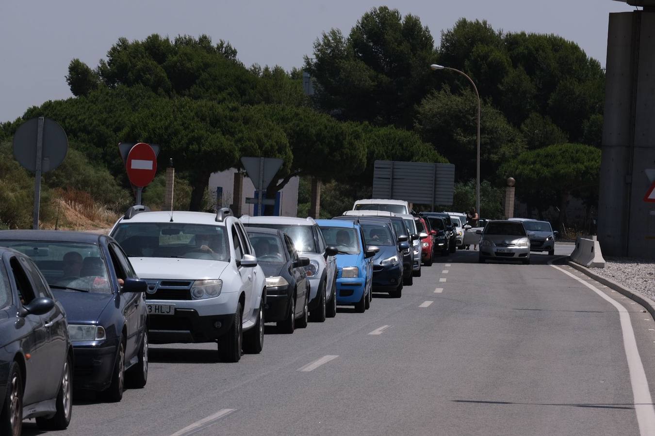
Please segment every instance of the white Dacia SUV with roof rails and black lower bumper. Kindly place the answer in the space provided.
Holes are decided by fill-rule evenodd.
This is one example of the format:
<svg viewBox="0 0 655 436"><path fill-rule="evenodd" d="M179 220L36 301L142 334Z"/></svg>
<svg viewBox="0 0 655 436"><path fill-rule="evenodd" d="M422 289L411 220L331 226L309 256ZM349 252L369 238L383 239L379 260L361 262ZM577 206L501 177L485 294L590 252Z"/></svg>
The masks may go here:
<svg viewBox="0 0 655 436"><path fill-rule="evenodd" d="M210 214L133 207L111 236L148 282L151 343L218 341L223 361L240 360L242 350L261 352L266 278L229 209Z"/></svg>

